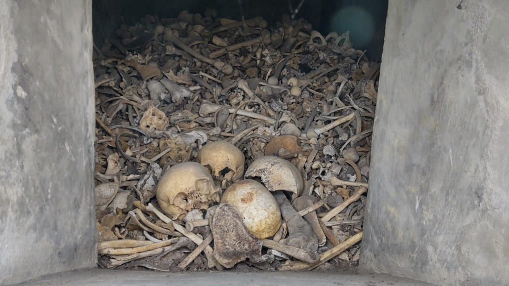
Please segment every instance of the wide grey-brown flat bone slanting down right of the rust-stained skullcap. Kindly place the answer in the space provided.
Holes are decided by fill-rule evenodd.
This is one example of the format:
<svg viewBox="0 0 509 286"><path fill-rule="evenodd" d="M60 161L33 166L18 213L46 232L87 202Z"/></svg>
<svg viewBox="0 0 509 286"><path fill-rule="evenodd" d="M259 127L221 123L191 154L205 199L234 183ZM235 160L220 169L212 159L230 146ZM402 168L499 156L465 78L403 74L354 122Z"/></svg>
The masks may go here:
<svg viewBox="0 0 509 286"><path fill-rule="evenodd" d="M272 192L272 194L276 198L281 210L281 215L288 225L289 236L287 238L287 245L317 251L318 239L313 229L292 207L285 193L282 191L275 191Z"/></svg>

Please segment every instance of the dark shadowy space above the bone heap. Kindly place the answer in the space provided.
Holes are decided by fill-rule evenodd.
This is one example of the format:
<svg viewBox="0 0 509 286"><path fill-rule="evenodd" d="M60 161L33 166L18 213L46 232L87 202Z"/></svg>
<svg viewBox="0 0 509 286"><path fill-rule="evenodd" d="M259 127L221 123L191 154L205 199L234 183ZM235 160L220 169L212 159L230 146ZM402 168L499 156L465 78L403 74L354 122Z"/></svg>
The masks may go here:
<svg viewBox="0 0 509 286"><path fill-rule="evenodd" d="M100 47L105 38L114 37L121 16L131 25L146 15L176 18L183 10L204 14L214 8L218 17L241 20L263 16L273 25L282 14L290 14L289 1L295 9L300 0L93 0L93 35ZM373 61L381 59L388 0L305 0L296 18L303 17L314 30L326 36L350 31L354 48L367 50Z"/></svg>

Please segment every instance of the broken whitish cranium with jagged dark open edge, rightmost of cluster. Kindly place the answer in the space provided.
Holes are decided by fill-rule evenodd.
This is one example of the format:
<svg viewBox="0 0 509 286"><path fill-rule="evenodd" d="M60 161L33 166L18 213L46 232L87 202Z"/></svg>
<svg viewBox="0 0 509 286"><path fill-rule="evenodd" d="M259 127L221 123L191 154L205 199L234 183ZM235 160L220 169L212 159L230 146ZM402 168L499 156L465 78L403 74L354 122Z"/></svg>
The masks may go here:
<svg viewBox="0 0 509 286"><path fill-rule="evenodd" d="M259 177L269 191L293 192L292 200L298 197L304 189L304 180L289 161L275 157L263 156L254 160L244 174L245 179Z"/></svg>

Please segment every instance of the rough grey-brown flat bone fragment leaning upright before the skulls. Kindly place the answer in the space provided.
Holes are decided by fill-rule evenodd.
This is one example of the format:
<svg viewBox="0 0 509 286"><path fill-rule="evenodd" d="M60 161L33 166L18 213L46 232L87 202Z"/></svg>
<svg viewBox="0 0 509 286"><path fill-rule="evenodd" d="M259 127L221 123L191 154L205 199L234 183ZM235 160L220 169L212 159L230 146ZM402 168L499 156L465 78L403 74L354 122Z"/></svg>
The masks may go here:
<svg viewBox="0 0 509 286"><path fill-rule="evenodd" d="M221 265L232 268L249 259L253 263L265 261L262 256L262 241L251 234L242 217L232 205L220 204L212 220L214 257Z"/></svg>

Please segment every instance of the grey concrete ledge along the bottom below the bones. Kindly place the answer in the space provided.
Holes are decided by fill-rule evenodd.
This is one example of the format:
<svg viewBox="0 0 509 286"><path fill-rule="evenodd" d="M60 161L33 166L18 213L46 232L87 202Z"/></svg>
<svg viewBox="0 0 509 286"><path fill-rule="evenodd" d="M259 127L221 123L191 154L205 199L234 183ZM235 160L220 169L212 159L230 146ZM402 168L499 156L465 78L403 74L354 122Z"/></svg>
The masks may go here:
<svg viewBox="0 0 509 286"><path fill-rule="evenodd" d="M121 286L121 285L207 285L207 286L431 286L432 284L385 274L348 272L185 272L104 270L72 271L54 274L18 286Z"/></svg>

